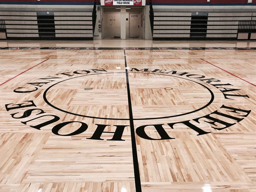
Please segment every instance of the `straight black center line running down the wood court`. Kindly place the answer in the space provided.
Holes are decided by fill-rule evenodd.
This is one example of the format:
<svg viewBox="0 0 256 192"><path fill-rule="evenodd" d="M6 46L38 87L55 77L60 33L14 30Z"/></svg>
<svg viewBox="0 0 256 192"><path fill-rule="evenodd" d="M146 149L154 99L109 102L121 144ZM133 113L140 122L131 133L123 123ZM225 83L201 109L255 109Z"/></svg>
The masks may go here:
<svg viewBox="0 0 256 192"><path fill-rule="evenodd" d="M126 74L126 86L127 86L128 107L129 107L130 129L131 129L131 148L133 151L133 169L134 169L135 189L136 189L136 192L141 192L141 178L139 176L139 163L138 163L136 138L135 138L134 124L133 124L133 110L131 107L131 95L130 95L130 86L129 86L125 50L123 50L123 53L125 56L125 74Z"/></svg>

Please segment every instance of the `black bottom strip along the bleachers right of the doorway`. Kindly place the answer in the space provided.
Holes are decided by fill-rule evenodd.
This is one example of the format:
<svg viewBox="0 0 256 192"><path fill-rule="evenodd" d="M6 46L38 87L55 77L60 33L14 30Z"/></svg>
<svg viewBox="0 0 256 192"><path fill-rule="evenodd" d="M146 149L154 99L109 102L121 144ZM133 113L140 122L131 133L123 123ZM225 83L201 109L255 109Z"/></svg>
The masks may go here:
<svg viewBox="0 0 256 192"><path fill-rule="evenodd" d="M153 41L236 41L236 37L153 37Z"/></svg>

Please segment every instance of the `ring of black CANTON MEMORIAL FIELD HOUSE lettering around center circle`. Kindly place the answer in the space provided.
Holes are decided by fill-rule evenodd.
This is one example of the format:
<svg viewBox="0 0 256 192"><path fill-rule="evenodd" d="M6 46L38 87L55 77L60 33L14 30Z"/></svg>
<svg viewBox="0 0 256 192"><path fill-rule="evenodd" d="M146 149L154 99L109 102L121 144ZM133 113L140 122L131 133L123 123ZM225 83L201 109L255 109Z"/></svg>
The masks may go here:
<svg viewBox="0 0 256 192"><path fill-rule="evenodd" d="M79 80L79 78L87 78L87 77L95 77L95 75L98 74L125 74L126 72L112 72L107 71L105 69L89 69L89 70L77 70L77 71L69 71L64 73L59 73L54 76L47 76L43 78L37 79L36 82L27 82L26 86L20 87L17 86L16 89L14 89L14 93L17 94L17 97L19 98L29 98L29 99L23 99L23 102L19 103L8 103L5 105L6 111L9 112L12 118L14 119L20 119L21 123L24 125L30 125L30 127L37 129L40 131L41 129L44 129L45 126L51 126L52 132L56 135L61 136L72 136L77 135L85 132L87 128L94 127L95 131L91 135L91 137L87 139L95 139L95 140L103 140L101 139L101 135L104 133L111 133L113 134L112 139L107 139L111 141L124 141L122 139L123 131L125 127L129 127L129 125L114 125L116 128L114 132L107 132L104 130L107 130L110 128L110 125L105 124L89 124L84 121L63 121L60 122L60 117L56 114L48 114L47 111L44 111L41 109L41 107L37 106L37 98L38 95L40 95L40 90L43 89L43 95L42 99L47 103L47 105L53 107L56 110L61 111L61 113L66 113L70 115L74 115L74 117L80 116L85 118L93 118L93 119L109 119L109 120L130 120L129 118L106 118L106 117L94 117L89 116L87 114L79 114L77 111L69 111L66 108L62 109L59 106L55 106L52 103L52 99L48 98L47 93L49 90L54 89L54 87L58 86L61 87L61 83L64 83L65 85L68 82L74 82ZM187 127L189 129L192 129L195 134L197 135L204 135L207 133L210 133L209 129L215 129L215 130L223 130L228 127L231 127L235 125L237 122L242 121L245 117L247 117L251 110L246 107L241 107L239 105L239 102L241 100L237 100L238 98L243 99L243 103L246 102L247 99L250 99L250 97L247 94L244 94L242 90L234 88L233 85L230 83L222 82L219 79L215 78L209 78L204 75L199 74L193 74L186 71L175 71L175 70L165 70L165 69L137 69L137 68L131 68L127 72L128 74L134 74L134 75L158 75L159 77L165 77L165 78L174 78L179 79L182 82L189 82L194 84L195 86L200 86L202 89L205 89L205 91L208 93L209 98L205 105L194 107L193 110L185 111L181 110L181 112L177 114L164 114L161 117L152 117L152 118L133 118L133 121L137 120L146 120L146 122L154 122L154 119L167 119L167 122L159 124L147 124L147 125L141 125L136 128L136 134L144 139L149 140L165 140L165 139L175 139L170 133L166 132L166 129L177 129L179 127ZM100 77L97 77L100 78ZM154 83L154 82L152 82ZM47 86L48 85L48 86ZM41 89L39 89L42 87ZM209 88L210 87L210 88ZM210 113L204 112L203 115L197 115L198 117L193 117L189 120L183 120L183 121L175 121L173 122L171 119L174 117L182 117L184 115L190 115L195 114L198 111L201 111L203 109L206 109L206 107L210 106L214 101L214 92L220 94L222 96L221 105L218 106L217 110L213 110ZM37 93L35 96L27 95L29 93ZM193 93L196 95L196 93ZM208 97L208 96L207 96ZM217 97L219 98L219 96ZM237 106L238 105L238 106ZM24 111L25 110L25 111ZM211 107L207 108L206 111L211 110ZM35 116L35 118L31 118L32 114ZM90 114L90 113L89 113ZM198 113L201 114L201 113ZM29 120L23 120L24 118L28 118ZM75 118L74 118L75 119ZM150 121L149 121L150 120ZM38 123L39 122L39 123ZM93 121L94 122L94 121ZM75 125L79 125L76 127L76 130L69 134L60 134L59 130L61 130L64 126L73 125L73 123L76 123ZM53 125L54 124L54 125ZM202 125L203 124L203 125ZM147 128L154 128L155 131L158 133L158 138L153 138L146 134L145 129ZM210 127L210 128L209 128Z"/></svg>

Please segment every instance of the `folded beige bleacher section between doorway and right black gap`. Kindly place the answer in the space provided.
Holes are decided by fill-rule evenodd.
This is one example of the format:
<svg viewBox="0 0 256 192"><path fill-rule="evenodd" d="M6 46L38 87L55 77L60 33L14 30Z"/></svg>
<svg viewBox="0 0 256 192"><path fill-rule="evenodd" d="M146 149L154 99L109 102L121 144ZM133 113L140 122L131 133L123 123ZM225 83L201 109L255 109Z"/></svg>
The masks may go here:
<svg viewBox="0 0 256 192"><path fill-rule="evenodd" d="M154 12L153 38L190 37L191 13Z"/></svg>

